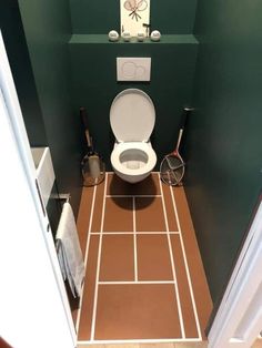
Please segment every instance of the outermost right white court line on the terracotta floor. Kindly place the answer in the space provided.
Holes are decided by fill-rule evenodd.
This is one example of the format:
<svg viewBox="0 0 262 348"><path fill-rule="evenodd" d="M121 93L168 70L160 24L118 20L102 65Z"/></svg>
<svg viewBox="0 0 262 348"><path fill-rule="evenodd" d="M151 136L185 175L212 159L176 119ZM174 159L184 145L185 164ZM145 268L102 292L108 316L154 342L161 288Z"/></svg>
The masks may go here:
<svg viewBox="0 0 262 348"><path fill-rule="evenodd" d="M181 231L181 225L180 225L178 208L177 208L177 204L175 204L175 199L174 199L174 194L173 194L173 190L172 190L171 186L170 186L170 193L171 193L171 197L172 197L172 203L173 203L173 209L174 209L175 218L178 221L178 228L180 231L180 242L181 242L181 247L182 247L182 253L183 253L183 258L184 258L185 273L187 273L188 283L189 283L190 296L191 296L192 306L193 306L194 319L195 319L195 324L196 324L196 328L198 328L199 338L202 340L202 334L201 334L201 329L200 329L200 323L199 323L199 316L198 316L198 310L196 310L196 306L195 306L193 287L192 287L192 282L191 282L191 277L190 277L188 259L187 259L185 249L184 249L183 235L182 235L182 231Z"/></svg>

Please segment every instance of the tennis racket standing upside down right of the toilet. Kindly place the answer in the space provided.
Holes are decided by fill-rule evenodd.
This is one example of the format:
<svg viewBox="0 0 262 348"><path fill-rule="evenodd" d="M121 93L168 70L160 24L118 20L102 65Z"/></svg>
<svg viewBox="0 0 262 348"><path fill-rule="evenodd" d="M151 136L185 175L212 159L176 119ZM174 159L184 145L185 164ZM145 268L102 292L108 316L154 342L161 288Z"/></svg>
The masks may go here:
<svg viewBox="0 0 262 348"><path fill-rule="evenodd" d="M177 186L181 184L182 178L184 176L185 163L179 153L179 147L182 140L187 119L192 111L193 111L192 108L183 109L175 149L173 150L173 152L165 155L160 164L160 177L163 183L171 186Z"/></svg>

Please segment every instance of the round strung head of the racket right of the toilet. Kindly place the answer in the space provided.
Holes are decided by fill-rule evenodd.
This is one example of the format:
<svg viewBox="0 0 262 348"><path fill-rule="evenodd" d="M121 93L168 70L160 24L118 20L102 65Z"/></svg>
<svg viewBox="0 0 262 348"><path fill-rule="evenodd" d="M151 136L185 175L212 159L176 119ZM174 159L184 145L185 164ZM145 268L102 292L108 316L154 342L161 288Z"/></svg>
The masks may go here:
<svg viewBox="0 0 262 348"><path fill-rule="evenodd" d="M184 166L185 163L179 154L167 155L160 164L161 181L171 186L179 185L184 176Z"/></svg>

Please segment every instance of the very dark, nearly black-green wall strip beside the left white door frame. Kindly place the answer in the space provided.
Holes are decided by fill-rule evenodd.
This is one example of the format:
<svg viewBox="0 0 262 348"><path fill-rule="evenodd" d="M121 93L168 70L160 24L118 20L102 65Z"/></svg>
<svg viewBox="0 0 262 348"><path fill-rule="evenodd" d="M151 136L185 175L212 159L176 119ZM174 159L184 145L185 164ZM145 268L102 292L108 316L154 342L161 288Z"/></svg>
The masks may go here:
<svg viewBox="0 0 262 348"><path fill-rule="evenodd" d="M0 28L30 144L44 146L47 135L18 1L0 1Z"/></svg>

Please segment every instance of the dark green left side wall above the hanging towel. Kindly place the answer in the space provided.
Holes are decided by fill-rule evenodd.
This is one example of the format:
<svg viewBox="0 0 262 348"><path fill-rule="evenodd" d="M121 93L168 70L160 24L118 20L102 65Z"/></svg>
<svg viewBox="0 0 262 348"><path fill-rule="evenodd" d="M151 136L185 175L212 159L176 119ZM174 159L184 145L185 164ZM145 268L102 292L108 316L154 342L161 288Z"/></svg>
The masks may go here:
<svg viewBox="0 0 262 348"><path fill-rule="evenodd" d="M77 212L81 193L80 120L73 113L67 0L19 1L37 92L60 192L71 193Z"/></svg>

